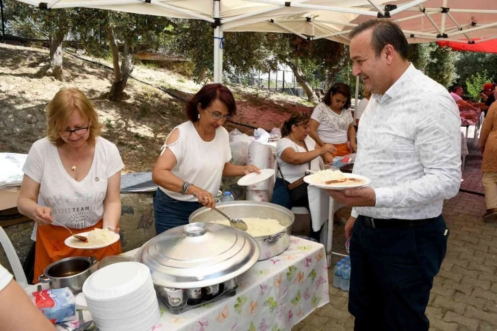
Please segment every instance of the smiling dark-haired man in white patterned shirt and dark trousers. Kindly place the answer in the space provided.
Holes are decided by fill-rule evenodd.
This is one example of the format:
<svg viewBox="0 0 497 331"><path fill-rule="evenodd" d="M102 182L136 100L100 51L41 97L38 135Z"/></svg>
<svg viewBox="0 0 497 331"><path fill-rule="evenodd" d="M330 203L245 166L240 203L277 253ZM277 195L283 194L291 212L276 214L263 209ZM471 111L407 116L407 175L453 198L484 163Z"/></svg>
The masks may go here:
<svg viewBox="0 0 497 331"><path fill-rule="evenodd" d="M349 34L353 74L373 94L361 117L353 173L371 187L329 194L353 206L348 310L355 331L427 331L424 311L446 253L444 199L461 184L461 120L447 90L407 60L393 22Z"/></svg>

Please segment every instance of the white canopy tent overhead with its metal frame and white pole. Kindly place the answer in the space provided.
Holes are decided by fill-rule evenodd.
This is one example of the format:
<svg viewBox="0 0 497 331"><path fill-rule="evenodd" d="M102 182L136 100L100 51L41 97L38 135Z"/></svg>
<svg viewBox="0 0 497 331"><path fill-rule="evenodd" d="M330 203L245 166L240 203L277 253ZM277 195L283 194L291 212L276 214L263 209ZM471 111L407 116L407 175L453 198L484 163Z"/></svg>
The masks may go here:
<svg viewBox="0 0 497 331"><path fill-rule="evenodd" d="M214 27L214 82L222 81L224 32L292 33L348 44L348 32L378 16L399 23L409 42L497 38L497 3L488 0L18 0L42 9L87 7L201 19ZM461 40L465 38L466 40Z"/></svg>

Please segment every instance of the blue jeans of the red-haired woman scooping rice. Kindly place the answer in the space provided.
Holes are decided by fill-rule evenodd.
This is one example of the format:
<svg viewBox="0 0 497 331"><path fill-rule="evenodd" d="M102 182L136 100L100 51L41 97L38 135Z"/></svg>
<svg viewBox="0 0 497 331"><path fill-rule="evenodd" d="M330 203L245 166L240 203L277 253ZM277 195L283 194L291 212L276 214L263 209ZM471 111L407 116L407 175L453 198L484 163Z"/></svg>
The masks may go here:
<svg viewBox="0 0 497 331"><path fill-rule="evenodd" d="M190 214L201 208L198 202L179 201L173 199L157 188L153 199L153 211L155 213L155 232L162 232L188 224Z"/></svg>

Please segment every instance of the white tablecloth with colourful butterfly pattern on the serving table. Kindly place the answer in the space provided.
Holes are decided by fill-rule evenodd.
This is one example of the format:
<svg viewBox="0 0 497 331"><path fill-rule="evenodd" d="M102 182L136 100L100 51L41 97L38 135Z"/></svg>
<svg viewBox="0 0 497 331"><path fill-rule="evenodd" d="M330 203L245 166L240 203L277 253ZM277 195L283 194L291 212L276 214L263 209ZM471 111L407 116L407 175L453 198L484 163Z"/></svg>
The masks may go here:
<svg viewBox="0 0 497 331"><path fill-rule="evenodd" d="M329 302L324 246L292 236L290 247L238 277L236 295L172 315L161 304L153 331L290 331Z"/></svg>

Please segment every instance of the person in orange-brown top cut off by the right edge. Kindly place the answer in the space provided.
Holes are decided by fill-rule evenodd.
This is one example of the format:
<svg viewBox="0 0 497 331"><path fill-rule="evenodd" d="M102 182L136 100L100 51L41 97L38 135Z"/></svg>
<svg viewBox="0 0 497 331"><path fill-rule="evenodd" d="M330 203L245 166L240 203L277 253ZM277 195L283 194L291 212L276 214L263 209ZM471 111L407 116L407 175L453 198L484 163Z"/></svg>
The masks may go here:
<svg viewBox="0 0 497 331"><path fill-rule="evenodd" d="M480 148L483 154L481 171L485 188L487 212L483 219L497 219L497 103L488 109L480 133Z"/></svg>

